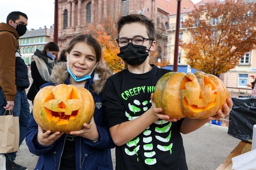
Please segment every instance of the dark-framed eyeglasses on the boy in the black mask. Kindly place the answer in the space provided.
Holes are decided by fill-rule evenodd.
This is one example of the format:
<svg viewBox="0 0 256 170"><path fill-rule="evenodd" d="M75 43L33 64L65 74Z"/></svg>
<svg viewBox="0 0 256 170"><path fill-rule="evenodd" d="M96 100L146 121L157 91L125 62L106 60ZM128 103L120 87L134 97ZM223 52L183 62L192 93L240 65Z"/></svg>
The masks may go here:
<svg viewBox="0 0 256 170"><path fill-rule="evenodd" d="M126 37L121 37L117 38L116 42L119 47L124 47L125 45L128 45L129 40L131 40L132 45L143 45L145 40L151 40L149 38L144 38L144 37L133 37L133 38L126 38ZM151 40L153 41L153 40Z"/></svg>

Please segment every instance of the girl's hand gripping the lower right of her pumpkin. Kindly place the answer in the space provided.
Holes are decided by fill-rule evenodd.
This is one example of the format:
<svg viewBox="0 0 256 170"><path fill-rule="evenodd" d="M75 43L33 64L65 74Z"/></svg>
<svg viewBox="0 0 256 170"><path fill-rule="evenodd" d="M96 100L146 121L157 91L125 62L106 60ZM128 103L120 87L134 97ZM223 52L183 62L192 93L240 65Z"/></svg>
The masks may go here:
<svg viewBox="0 0 256 170"><path fill-rule="evenodd" d="M99 139L99 132L97 130L96 124L94 122L94 117L91 119L90 123L84 123L84 128L74 132L70 132L70 135L82 136L91 141L96 141Z"/></svg>

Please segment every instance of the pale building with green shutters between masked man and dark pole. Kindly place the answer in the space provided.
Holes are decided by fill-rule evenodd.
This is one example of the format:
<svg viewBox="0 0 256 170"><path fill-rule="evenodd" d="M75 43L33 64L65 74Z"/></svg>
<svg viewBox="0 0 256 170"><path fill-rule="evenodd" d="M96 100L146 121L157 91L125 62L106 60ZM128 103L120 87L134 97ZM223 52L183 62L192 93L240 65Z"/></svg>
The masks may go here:
<svg viewBox="0 0 256 170"><path fill-rule="evenodd" d="M20 53L26 63L30 65L31 56L36 49L43 50L47 42L53 41L53 27L27 30L26 34L19 38Z"/></svg>

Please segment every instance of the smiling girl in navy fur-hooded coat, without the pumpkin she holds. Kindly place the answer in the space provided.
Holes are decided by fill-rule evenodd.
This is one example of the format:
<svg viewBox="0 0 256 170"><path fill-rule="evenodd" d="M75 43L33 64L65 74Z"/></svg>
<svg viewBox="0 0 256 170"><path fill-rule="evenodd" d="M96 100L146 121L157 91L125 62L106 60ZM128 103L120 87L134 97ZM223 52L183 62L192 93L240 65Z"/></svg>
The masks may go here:
<svg viewBox="0 0 256 170"><path fill-rule="evenodd" d="M70 41L67 63L57 63L50 82L41 86L71 84L89 90L95 102L90 123L70 133L43 130L31 115L26 144L39 156L38 170L98 170L113 169L110 148L114 147L108 128L103 126L102 90L111 71L101 68L99 42L90 34L81 34Z"/></svg>

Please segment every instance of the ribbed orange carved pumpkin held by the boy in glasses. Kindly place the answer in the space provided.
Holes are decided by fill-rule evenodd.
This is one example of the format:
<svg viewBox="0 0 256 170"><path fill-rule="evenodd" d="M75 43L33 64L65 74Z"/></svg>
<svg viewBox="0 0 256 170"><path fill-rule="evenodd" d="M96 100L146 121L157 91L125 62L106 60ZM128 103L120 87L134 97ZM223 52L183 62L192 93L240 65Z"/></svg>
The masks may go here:
<svg viewBox="0 0 256 170"><path fill-rule="evenodd" d="M154 92L157 108L171 118L204 119L216 115L229 93L212 74L170 72L161 77Z"/></svg>

